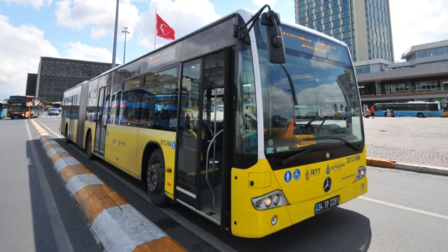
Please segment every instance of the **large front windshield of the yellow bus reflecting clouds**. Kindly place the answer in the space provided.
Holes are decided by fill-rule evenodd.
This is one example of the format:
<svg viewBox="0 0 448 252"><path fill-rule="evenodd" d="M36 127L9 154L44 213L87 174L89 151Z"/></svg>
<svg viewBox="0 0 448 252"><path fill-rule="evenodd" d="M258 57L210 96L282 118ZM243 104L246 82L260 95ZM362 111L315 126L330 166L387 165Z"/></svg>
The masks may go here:
<svg viewBox="0 0 448 252"><path fill-rule="evenodd" d="M271 64L265 27L257 39L265 153L363 141L360 97L346 45L281 25L287 62ZM308 150L306 150L308 151Z"/></svg>

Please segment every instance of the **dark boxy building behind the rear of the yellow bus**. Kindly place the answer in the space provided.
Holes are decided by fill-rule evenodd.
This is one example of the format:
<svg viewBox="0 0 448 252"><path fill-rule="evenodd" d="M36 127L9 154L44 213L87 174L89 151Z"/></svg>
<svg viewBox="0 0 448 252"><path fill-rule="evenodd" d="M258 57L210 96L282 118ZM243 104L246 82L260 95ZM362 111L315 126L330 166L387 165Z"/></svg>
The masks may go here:
<svg viewBox="0 0 448 252"><path fill-rule="evenodd" d="M28 79L26 89L33 90L34 85L35 93L31 95L60 102L65 90L97 77L111 67L111 63L41 57L37 80L33 83Z"/></svg>

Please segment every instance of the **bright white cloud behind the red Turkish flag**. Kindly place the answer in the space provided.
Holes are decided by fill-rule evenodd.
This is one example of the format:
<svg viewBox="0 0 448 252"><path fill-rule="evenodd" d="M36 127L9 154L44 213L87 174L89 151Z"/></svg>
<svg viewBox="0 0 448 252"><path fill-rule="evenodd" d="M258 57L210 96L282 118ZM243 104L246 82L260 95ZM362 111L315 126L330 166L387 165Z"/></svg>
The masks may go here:
<svg viewBox="0 0 448 252"><path fill-rule="evenodd" d="M142 13L137 29L140 33L139 43L146 48L154 48L155 12L176 32L176 38L211 23L220 16L215 12L213 4L207 0L153 0L149 11ZM156 45L160 47L169 40L156 38Z"/></svg>

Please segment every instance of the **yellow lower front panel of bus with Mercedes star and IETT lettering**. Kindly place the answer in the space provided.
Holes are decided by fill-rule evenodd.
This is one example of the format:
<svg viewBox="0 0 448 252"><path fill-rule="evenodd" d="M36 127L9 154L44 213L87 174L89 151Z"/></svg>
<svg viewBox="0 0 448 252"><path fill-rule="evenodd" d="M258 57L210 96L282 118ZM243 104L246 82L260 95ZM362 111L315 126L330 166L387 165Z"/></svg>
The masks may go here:
<svg viewBox="0 0 448 252"><path fill-rule="evenodd" d="M360 166L366 166L363 153L320 163L272 171L267 160L249 169L232 169L232 233L258 238L272 234L299 221L313 217L316 203L339 196L339 204L363 195L368 190L367 177L356 179ZM324 191L324 181L331 178L331 190ZM361 190L362 185L362 190ZM274 190L283 192L289 204L256 210L251 199ZM277 224L272 225L272 217Z"/></svg>

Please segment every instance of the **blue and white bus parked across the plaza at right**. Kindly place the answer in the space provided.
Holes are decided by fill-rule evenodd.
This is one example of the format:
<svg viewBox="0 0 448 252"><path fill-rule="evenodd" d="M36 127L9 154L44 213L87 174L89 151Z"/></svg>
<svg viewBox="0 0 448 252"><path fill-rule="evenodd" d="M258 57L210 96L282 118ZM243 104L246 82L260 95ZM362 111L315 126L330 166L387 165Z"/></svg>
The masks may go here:
<svg viewBox="0 0 448 252"><path fill-rule="evenodd" d="M443 117L443 109L439 102L388 102L373 105L375 116L388 116L388 109L392 116Z"/></svg>

